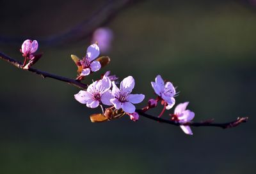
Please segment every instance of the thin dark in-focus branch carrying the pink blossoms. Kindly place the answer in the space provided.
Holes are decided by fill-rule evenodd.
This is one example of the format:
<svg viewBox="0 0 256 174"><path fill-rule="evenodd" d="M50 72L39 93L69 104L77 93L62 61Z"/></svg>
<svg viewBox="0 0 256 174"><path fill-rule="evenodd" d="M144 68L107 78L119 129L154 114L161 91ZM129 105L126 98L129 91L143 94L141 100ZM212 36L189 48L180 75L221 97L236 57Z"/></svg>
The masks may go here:
<svg viewBox="0 0 256 174"><path fill-rule="evenodd" d="M22 67L21 62L16 61L15 59L12 59L11 57L8 57L7 55L4 55L1 52L0 52L0 59L3 59L4 61L7 61L10 64L12 64L13 66L16 66L17 68L22 69L21 68ZM81 89L86 89L87 88L86 84L78 82L77 80L74 80L72 78L66 78L66 77L63 77L63 76L54 75L54 74L47 73L47 72L44 72L44 71L40 71L40 70L34 69L34 68L22 69L22 70L30 71L31 73L35 73L36 75L42 76L43 78L49 77L49 78L53 78L55 80L60 80L61 82L69 83L70 85L74 85L74 86L79 87ZM234 120L232 122L225 122L225 123L213 123L212 122L213 120L208 120L208 121L205 121L205 122L186 122L186 123L182 124L180 122L175 122L173 120L166 120L166 119L162 119L160 117L154 117L152 115L149 115L149 114L143 112L143 110L137 109L136 112L138 112L141 116L143 116L147 119L155 120L157 122L172 124L172 125L175 125L175 126L181 126L181 125L195 126L195 127L212 126L212 127L221 127L223 129L225 129L225 128L229 128L229 127L238 126L239 124L241 124L243 122L247 122L247 120L248 120L248 117L241 117L241 118L237 118L237 120Z"/></svg>

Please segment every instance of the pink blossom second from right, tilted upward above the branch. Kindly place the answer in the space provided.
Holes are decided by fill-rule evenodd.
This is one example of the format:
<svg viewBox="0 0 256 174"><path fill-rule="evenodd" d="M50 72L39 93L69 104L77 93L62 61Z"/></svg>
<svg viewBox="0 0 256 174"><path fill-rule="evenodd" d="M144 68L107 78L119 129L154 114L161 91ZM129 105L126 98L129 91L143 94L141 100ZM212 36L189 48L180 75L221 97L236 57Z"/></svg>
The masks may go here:
<svg viewBox="0 0 256 174"><path fill-rule="evenodd" d="M175 94L176 90L173 87L171 82L166 82L164 84L164 80L160 75L156 76L156 82L151 82L151 85L156 92L156 94L161 97L168 105L166 106L167 110L173 107L175 104Z"/></svg>

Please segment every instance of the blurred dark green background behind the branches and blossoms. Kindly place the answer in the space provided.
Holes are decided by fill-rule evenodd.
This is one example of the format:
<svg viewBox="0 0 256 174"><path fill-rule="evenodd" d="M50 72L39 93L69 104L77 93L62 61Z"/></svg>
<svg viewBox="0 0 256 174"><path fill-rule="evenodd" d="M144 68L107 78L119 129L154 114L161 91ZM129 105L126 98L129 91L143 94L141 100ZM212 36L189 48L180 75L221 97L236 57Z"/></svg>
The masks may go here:
<svg viewBox="0 0 256 174"><path fill-rule="evenodd" d="M104 3L0 1L0 35L40 44ZM134 93L146 94L145 105L160 74L179 87L177 103L190 101L195 121L249 116L249 122L225 130L192 127L193 136L143 117L95 124L89 116L100 110L78 103L76 87L0 61L0 173L255 173L253 1L142 1L105 26L115 34L111 64L92 78L107 70L121 79L134 76ZM21 44L0 43L0 51L22 61ZM40 45L44 56L35 68L75 78L70 54L82 57L88 45L90 38Z"/></svg>

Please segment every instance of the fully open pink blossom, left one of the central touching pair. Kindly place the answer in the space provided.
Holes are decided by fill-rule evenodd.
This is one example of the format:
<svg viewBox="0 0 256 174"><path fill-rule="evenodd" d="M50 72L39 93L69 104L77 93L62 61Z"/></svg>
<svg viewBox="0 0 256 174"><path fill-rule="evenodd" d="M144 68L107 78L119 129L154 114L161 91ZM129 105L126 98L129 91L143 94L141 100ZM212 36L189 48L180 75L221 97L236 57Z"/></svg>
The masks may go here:
<svg viewBox="0 0 256 174"><path fill-rule="evenodd" d="M96 108L100 103L112 105L110 99L113 96L110 88L111 81L107 76L104 76L101 80L90 84L87 91L79 91L74 97L80 103L86 104L88 108Z"/></svg>

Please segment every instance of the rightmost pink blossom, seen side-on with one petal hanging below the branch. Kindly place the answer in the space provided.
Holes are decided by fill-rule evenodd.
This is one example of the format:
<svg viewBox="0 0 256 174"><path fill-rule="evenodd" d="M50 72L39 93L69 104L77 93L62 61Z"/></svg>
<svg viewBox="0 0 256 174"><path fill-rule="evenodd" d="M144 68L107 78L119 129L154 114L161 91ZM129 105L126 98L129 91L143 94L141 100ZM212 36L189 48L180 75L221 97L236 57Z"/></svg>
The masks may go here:
<svg viewBox="0 0 256 174"><path fill-rule="evenodd" d="M178 121L180 123L186 123L193 120L193 118L195 117L195 113L191 112L190 110L186 110L188 103L189 102L185 102L177 105L174 110L174 114L171 114L171 119ZM189 126L181 125L180 128L186 134L191 134L191 135L193 134Z"/></svg>

